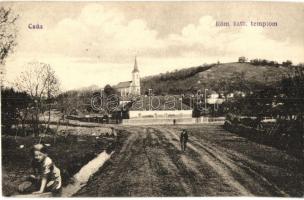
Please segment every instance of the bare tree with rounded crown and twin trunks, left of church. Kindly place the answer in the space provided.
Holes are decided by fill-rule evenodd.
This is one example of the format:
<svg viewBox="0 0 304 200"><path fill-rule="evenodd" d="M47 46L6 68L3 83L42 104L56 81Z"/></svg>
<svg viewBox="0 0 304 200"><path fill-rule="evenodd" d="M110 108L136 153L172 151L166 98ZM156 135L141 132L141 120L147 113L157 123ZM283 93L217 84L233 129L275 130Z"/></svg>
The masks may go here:
<svg viewBox="0 0 304 200"><path fill-rule="evenodd" d="M51 100L59 91L59 81L49 64L31 62L27 70L22 72L15 81L16 87L30 95L34 101L35 114L32 119L35 135L39 135L39 114L44 103L48 104L50 123Z"/></svg>

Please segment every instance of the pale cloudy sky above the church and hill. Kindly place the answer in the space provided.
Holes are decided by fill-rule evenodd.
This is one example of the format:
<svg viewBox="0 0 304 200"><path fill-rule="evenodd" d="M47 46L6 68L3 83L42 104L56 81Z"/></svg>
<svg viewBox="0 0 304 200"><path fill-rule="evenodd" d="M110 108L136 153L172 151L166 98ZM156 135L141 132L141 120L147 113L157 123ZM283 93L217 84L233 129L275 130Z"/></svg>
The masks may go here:
<svg viewBox="0 0 304 200"><path fill-rule="evenodd" d="M220 61L304 62L304 3L5 2L19 15L17 46L6 60L12 83L28 63L52 66L63 91L131 80ZM229 22L229 27L216 22ZM276 27L232 26L234 21ZM43 29L30 29L39 24Z"/></svg>

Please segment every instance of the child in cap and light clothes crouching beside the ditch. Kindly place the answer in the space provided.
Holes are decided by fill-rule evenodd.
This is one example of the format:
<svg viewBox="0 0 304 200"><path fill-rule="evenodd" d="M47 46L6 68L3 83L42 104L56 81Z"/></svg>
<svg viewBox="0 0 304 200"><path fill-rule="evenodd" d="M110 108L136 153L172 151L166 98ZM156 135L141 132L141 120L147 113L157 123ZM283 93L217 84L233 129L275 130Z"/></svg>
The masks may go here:
<svg viewBox="0 0 304 200"><path fill-rule="evenodd" d="M19 191L29 192L29 190L36 190L33 194L44 192L59 194L61 190L60 170L55 166L52 159L48 157L45 146L42 144L34 145L32 153L34 174L28 178L32 184L23 184L23 186L21 184Z"/></svg>

